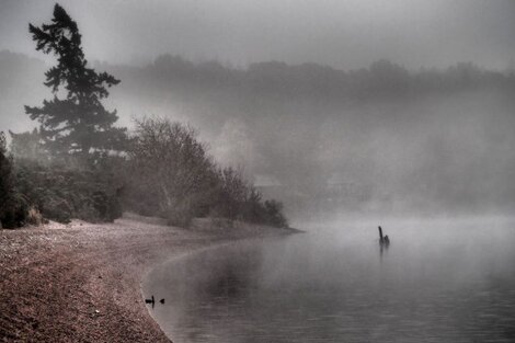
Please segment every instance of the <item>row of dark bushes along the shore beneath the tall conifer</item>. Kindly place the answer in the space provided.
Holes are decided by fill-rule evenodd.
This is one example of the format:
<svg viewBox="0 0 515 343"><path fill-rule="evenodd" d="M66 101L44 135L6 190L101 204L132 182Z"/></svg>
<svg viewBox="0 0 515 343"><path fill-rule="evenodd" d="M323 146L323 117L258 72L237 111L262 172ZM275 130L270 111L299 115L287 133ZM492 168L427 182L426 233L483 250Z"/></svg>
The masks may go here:
<svg viewBox="0 0 515 343"><path fill-rule="evenodd" d="M219 167L192 127L160 118L135 125L123 151L85 163L44 151L37 130L11 133L12 155L3 139L0 156L1 194L9 196L2 225L111 221L133 210L186 227L194 217L287 226L283 205L263 199L241 170Z"/></svg>

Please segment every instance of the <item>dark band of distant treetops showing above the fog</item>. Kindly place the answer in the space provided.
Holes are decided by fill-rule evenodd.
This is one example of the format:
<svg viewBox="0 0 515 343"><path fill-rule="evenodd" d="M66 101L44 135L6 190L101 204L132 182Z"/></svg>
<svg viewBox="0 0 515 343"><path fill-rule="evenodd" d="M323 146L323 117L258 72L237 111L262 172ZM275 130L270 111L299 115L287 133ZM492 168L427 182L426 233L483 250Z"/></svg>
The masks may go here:
<svg viewBox="0 0 515 343"><path fill-rule="evenodd" d="M515 88L515 70L494 71L472 62L458 62L446 69L411 71L386 59L368 68L339 70L318 64L287 65L281 61L251 64L248 68L226 67L218 61L194 64L180 56L162 55L146 67L104 65L121 75L169 91L178 89L233 89L238 93L275 98L317 98L321 100L370 101L380 96L407 99L478 88ZM136 83L131 83L138 87Z"/></svg>

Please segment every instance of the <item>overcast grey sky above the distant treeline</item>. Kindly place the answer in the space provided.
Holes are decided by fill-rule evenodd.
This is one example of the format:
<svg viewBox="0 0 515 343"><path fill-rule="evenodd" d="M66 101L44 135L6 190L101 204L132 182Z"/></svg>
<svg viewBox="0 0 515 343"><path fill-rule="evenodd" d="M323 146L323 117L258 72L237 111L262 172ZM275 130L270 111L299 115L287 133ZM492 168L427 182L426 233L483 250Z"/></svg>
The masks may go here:
<svg viewBox="0 0 515 343"><path fill-rule="evenodd" d="M0 0L0 49L41 57L27 23L55 1ZM408 68L515 59L513 0L93 0L59 1L79 23L90 60L144 64L164 53L236 66L313 61Z"/></svg>

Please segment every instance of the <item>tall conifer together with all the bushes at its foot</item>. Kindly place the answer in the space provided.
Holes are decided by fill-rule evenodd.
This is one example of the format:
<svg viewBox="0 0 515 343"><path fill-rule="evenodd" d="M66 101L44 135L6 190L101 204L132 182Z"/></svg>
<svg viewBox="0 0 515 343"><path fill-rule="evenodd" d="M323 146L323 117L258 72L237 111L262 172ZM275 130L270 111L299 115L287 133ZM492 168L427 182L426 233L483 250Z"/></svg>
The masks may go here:
<svg viewBox="0 0 515 343"><path fill-rule="evenodd" d="M36 49L58 57L45 73L54 99L25 106L39 130L11 132L14 163L0 136L0 222L16 227L41 214L111 221L130 209L181 226L210 216L287 227L282 204L263 201L242 174L218 167L190 126L144 118L127 138L125 127L114 126L116 111L101 102L119 81L87 67L77 23L59 4L52 22L30 25Z"/></svg>

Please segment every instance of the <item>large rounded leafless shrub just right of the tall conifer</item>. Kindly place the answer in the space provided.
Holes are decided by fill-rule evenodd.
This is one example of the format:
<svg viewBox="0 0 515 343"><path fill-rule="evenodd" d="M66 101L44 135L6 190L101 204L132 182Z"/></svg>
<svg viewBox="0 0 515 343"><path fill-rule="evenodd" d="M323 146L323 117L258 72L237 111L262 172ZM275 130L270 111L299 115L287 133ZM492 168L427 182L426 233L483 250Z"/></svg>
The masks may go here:
<svg viewBox="0 0 515 343"><path fill-rule="evenodd" d="M192 127L168 119L137 121L129 165L126 204L131 210L180 226L207 214L215 168Z"/></svg>

